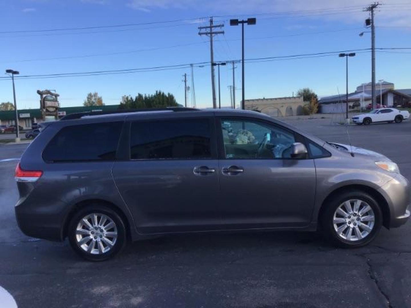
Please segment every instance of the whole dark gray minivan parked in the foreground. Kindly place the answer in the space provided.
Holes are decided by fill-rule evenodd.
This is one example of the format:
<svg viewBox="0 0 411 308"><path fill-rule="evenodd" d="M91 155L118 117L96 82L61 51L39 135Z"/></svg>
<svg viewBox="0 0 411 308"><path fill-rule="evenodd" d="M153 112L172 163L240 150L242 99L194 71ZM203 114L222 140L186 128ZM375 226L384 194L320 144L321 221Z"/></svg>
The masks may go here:
<svg viewBox="0 0 411 308"><path fill-rule="evenodd" d="M410 186L393 161L262 113L102 114L48 124L15 173L21 230L68 237L87 260L181 232L319 229L355 248L410 216Z"/></svg>

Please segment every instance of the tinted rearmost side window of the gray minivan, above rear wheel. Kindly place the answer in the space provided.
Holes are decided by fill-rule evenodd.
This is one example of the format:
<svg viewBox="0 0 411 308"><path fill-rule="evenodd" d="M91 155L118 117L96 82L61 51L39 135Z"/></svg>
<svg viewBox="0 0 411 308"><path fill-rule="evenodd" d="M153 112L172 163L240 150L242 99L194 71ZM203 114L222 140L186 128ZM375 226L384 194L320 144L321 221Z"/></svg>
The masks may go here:
<svg viewBox="0 0 411 308"><path fill-rule="evenodd" d="M67 126L43 151L47 162L111 161L115 159L123 122Z"/></svg>

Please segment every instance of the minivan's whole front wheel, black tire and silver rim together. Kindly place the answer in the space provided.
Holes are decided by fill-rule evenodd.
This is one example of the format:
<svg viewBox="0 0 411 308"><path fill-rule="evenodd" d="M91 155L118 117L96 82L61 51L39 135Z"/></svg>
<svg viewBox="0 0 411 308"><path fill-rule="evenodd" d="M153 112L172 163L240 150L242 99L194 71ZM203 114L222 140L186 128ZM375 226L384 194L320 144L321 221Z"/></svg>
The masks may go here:
<svg viewBox="0 0 411 308"><path fill-rule="evenodd" d="M381 209L375 199L363 191L339 194L325 206L321 221L323 231L336 246L365 246L381 229Z"/></svg>

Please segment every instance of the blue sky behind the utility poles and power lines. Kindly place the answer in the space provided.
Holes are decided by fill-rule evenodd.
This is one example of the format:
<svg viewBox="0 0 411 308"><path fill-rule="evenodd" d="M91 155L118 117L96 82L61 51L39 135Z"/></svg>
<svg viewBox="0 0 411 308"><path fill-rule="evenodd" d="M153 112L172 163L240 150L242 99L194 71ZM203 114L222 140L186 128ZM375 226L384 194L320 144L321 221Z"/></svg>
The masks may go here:
<svg viewBox="0 0 411 308"><path fill-rule="evenodd" d="M229 25L229 15L257 18L245 28L245 57L261 58L370 47L363 11L368 1L353 0L3 0L0 32L83 28L177 21L115 28L46 32L1 33L0 70L21 75L107 71L210 61L207 37L198 26L206 16L224 23L215 37L215 61L241 57L241 28ZM191 20L187 20L191 19ZM390 0L376 11L376 47L411 48L411 0ZM321 32L321 33L319 33ZM114 53L114 54L113 54ZM110 55L108 55L110 54ZM58 59L53 59L58 58ZM62 59L65 58L65 59ZM241 97L241 65L236 69L236 103ZM231 66L221 67L222 106L228 106ZM246 63L246 99L292 96L302 87L319 96L345 92L345 60L337 55ZM349 59L349 90L371 81L371 54ZM411 49L376 54L376 79L411 88ZM61 106L82 105L88 92L97 91L106 104L122 95L171 92L184 103L182 75L189 68L68 78L16 80L19 108L39 108L38 89L60 94ZM216 71L217 74L217 71ZM6 76L6 75L3 75ZM217 76L216 76L217 80ZM210 107L210 67L194 67L197 106ZM191 84L189 84L191 85ZM217 85L218 86L218 85ZM217 88L218 91L218 88ZM218 97L218 94L217 94ZM191 98L191 95L189 95ZM0 80L0 101L12 101L9 80ZM189 99L189 105L191 99Z"/></svg>

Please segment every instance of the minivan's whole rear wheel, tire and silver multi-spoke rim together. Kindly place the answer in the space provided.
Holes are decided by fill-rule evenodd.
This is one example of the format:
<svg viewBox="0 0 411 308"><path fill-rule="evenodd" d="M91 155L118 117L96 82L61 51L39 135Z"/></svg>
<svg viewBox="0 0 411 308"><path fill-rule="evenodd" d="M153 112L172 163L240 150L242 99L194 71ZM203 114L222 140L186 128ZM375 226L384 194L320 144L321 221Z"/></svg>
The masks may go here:
<svg viewBox="0 0 411 308"><path fill-rule="evenodd" d="M124 222L104 205L79 210L69 223L67 236L74 251L89 261L114 257L126 244Z"/></svg>

